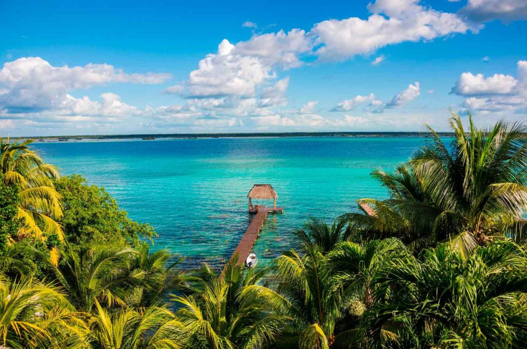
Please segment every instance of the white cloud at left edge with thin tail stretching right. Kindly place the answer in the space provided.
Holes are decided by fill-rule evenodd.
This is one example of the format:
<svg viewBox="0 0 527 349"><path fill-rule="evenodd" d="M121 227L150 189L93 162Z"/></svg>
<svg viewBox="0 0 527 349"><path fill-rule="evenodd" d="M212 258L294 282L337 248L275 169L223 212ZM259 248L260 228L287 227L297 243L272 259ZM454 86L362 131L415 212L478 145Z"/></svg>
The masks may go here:
<svg viewBox="0 0 527 349"><path fill-rule="evenodd" d="M40 57L4 63L0 70L0 106L11 111L59 107L67 93L109 83L158 84L170 74L128 74L109 64L52 66Z"/></svg>

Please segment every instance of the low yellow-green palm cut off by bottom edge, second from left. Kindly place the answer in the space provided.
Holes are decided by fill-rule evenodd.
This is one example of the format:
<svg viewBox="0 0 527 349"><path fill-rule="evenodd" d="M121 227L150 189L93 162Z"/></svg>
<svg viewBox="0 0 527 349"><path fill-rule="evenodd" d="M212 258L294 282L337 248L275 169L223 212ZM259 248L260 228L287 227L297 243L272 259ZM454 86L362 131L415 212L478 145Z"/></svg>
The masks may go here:
<svg viewBox="0 0 527 349"><path fill-rule="evenodd" d="M113 313L95 301L91 318L94 348L101 349L178 349L180 324L172 312L163 307L121 308Z"/></svg>

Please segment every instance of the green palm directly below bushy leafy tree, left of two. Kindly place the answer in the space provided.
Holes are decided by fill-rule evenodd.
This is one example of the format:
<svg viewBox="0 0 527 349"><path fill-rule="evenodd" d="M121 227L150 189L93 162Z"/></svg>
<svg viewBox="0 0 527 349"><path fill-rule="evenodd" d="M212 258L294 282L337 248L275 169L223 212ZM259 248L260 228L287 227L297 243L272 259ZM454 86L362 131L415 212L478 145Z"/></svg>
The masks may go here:
<svg viewBox="0 0 527 349"><path fill-rule="evenodd" d="M79 252L70 248L54 272L80 311L90 313L97 300L108 306L126 306L135 287L142 285L140 275L130 268L135 256L132 248L123 246L82 247Z"/></svg>

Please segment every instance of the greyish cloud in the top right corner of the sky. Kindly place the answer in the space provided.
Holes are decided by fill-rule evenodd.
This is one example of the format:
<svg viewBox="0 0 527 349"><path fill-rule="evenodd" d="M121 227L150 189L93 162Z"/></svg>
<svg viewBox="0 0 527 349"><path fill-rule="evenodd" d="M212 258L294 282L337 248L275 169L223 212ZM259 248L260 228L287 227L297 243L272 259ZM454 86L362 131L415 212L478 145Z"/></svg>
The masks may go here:
<svg viewBox="0 0 527 349"><path fill-rule="evenodd" d="M525 0L469 0L460 14L475 22L500 19L502 22L527 19Z"/></svg>

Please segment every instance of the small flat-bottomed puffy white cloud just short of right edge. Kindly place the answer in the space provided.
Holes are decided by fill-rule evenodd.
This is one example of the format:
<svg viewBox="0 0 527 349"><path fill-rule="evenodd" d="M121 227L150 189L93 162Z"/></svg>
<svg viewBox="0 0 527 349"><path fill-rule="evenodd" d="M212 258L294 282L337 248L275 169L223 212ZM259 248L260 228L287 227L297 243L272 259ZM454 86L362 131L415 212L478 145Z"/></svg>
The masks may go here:
<svg viewBox="0 0 527 349"><path fill-rule="evenodd" d="M463 73L452 92L462 96L484 96L510 94L518 81L510 75L494 74L485 78L483 74Z"/></svg>

